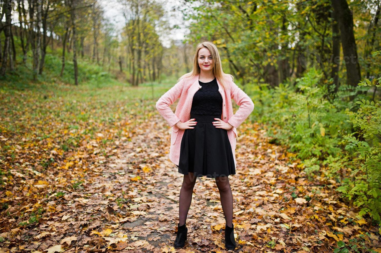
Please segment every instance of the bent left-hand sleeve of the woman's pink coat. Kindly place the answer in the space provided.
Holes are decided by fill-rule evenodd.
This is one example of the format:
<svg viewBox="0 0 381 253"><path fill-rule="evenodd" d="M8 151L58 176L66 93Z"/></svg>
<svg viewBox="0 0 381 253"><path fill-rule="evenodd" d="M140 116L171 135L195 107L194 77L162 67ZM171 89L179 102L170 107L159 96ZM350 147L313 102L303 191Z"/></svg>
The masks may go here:
<svg viewBox="0 0 381 253"><path fill-rule="evenodd" d="M184 88L184 78L176 83L171 89L163 94L156 102L156 109L160 115L168 122L170 127L173 127L180 121L170 108L170 105L179 99L182 89Z"/></svg>

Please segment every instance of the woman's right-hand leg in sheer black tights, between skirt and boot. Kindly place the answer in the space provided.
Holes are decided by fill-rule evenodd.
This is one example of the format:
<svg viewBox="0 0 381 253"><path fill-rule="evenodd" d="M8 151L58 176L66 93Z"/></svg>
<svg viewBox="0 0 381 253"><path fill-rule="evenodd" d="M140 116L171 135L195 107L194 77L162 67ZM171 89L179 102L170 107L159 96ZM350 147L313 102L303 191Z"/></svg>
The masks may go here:
<svg viewBox="0 0 381 253"><path fill-rule="evenodd" d="M216 184L224 211L226 225L233 226L233 194L230 188L229 177L216 177Z"/></svg>

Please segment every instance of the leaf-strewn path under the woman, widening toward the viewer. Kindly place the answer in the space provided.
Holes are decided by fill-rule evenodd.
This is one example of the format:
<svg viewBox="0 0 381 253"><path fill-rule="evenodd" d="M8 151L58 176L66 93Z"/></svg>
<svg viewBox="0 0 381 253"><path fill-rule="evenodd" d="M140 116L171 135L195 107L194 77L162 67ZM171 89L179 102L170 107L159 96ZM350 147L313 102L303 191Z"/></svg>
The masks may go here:
<svg viewBox="0 0 381 253"><path fill-rule="evenodd" d="M291 154L263 137L265 130L248 127L238 129L237 174L229 177L236 251L333 252L337 241L354 245L353 238L359 239L355 245L379 245L377 228L340 202L335 182L308 181L289 161ZM27 233L10 231L13 241L0 252L226 252L218 189L207 177L194 188L189 244L172 247L182 175L168 159L169 138L166 122L152 115L131 142L115 143L115 155L83 177L82 189L54 203L53 216ZM362 239L365 232L369 236Z"/></svg>

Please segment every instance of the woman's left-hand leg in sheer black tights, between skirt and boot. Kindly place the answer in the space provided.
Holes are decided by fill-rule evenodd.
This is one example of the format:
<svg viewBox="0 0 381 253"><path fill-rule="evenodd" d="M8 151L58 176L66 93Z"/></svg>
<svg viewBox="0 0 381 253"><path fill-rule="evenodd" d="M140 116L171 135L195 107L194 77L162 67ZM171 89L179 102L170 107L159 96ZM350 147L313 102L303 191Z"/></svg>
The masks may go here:
<svg viewBox="0 0 381 253"><path fill-rule="evenodd" d="M184 225L187 220L189 207L191 207L193 187L195 183L196 177L194 176L193 172L189 172L188 175L184 175L179 199L179 226Z"/></svg>

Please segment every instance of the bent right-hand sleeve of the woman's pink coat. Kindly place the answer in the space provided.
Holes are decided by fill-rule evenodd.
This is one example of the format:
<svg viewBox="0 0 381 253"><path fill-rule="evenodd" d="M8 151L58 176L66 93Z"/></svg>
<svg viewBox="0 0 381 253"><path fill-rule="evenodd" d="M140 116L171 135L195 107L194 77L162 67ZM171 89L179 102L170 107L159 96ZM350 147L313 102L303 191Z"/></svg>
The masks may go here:
<svg viewBox="0 0 381 253"><path fill-rule="evenodd" d="M230 82L230 86L231 98L239 105L239 108L227 123L237 128L254 110L254 103L233 81Z"/></svg>

